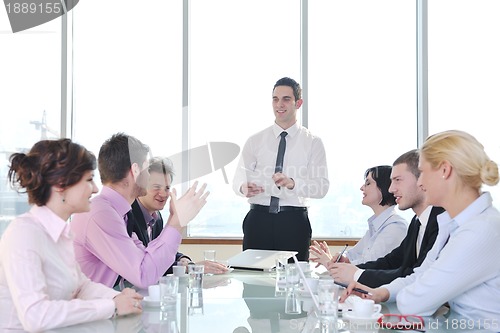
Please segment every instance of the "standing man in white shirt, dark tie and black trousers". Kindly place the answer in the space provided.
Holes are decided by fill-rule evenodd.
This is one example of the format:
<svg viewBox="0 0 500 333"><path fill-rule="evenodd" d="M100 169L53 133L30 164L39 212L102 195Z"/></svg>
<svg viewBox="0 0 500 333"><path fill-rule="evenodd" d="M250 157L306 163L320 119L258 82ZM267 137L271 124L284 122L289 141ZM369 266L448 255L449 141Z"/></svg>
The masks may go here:
<svg viewBox="0 0 500 333"><path fill-rule="evenodd" d="M323 198L330 183L323 142L297 123L301 94L295 80L278 80L272 95L274 124L243 147L233 182L233 190L250 203L243 250L297 251L299 260L309 258L307 199Z"/></svg>

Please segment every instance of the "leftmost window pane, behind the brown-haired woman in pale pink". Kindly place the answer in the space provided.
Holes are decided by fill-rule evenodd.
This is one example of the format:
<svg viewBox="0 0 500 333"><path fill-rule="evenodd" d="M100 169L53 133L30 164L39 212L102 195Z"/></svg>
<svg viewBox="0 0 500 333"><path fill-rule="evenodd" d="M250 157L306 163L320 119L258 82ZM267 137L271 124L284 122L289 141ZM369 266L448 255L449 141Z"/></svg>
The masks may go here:
<svg viewBox="0 0 500 333"><path fill-rule="evenodd" d="M29 209L7 182L9 157L40 139L58 138L61 121L61 19L12 33L0 10L0 235Z"/></svg>

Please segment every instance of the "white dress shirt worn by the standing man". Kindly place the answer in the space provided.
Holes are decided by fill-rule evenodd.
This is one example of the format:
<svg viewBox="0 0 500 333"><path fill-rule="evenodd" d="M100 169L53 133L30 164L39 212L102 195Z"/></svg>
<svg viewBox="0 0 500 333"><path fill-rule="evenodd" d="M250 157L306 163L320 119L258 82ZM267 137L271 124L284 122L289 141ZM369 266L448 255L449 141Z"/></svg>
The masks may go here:
<svg viewBox="0 0 500 333"><path fill-rule="evenodd" d="M280 198L280 206L305 207L307 198L323 198L330 187L325 148L320 138L297 123L286 129L283 174L293 178L295 187L279 189L272 175L281 132L283 129L274 123L247 140L234 175L233 190L241 196L241 185L253 182L262 186L265 192L249 198L251 204L269 206L272 195Z"/></svg>

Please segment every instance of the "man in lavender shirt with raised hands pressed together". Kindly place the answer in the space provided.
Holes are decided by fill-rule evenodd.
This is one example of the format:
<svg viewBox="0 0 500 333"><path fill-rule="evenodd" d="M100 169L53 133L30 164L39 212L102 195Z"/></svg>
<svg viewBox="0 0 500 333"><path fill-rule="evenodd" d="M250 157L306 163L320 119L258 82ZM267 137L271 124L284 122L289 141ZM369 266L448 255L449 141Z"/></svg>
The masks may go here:
<svg viewBox="0 0 500 333"><path fill-rule="evenodd" d="M127 234L127 213L134 200L146 194L149 148L133 136L114 134L101 146L98 168L101 192L92 199L90 211L75 214L76 260L91 280L117 287L122 279L145 289L156 284L175 260L182 228L205 205L206 185L195 183L181 198L171 193L167 224L147 247Z"/></svg>

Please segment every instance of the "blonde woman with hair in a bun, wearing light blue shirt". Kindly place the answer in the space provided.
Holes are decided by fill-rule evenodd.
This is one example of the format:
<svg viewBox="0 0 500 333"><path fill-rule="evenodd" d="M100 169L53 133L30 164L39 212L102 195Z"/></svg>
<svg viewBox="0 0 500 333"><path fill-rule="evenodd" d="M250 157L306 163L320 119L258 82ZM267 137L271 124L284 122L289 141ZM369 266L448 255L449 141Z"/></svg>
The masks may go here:
<svg viewBox="0 0 500 333"><path fill-rule="evenodd" d="M500 212L482 184L499 182L498 166L470 134L446 131L430 136L420 151L419 185L427 201L442 206L439 233L422 266L412 275L371 289L377 302L396 301L401 313L432 315L448 302L479 328L500 323ZM496 327L491 326L496 323Z"/></svg>

